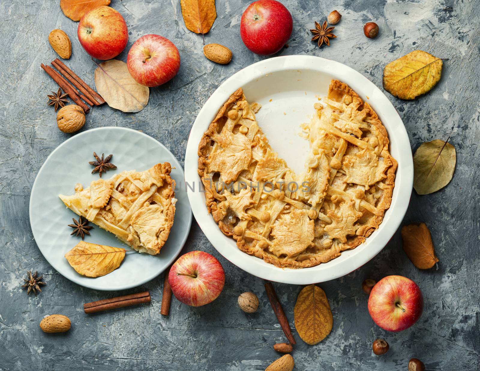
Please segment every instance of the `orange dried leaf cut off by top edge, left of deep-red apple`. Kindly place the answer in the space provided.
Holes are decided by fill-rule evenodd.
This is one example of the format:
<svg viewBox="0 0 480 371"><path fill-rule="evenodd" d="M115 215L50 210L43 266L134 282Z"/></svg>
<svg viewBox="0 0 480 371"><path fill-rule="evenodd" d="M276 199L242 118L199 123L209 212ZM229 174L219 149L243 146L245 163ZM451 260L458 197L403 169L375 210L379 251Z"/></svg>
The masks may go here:
<svg viewBox="0 0 480 371"><path fill-rule="evenodd" d="M216 19L215 0L180 0L185 27L195 34L206 34Z"/></svg>

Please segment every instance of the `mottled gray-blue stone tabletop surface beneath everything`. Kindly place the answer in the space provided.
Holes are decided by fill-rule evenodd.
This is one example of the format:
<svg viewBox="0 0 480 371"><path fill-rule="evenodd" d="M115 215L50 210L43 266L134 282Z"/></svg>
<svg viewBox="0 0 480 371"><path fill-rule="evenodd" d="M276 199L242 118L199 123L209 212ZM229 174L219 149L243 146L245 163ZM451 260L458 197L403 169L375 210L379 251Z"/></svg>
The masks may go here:
<svg viewBox="0 0 480 371"><path fill-rule="evenodd" d="M293 16L289 48L277 55L316 55L340 61L382 87L384 65L414 49L444 62L442 79L430 93L402 101L386 93L399 111L412 150L420 143L450 137L457 151L453 180L436 193L412 194L404 224L424 221L432 231L440 263L420 271L401 248L399 232L371 262L351 274L320 284L334 315L333 331L316 346L298 344L296 370L407 370L408 359L422 359L427 370L478 370L479 330L479 3L453 0L282 0ZM117 125L141 129L165 144L183 162L188 134L198 111L218 85L234 72L264 57L241 42L240 15L249 0L216 0L218 17L205 43L233 50L221 66L202 54L202 37L186 30L178 0L113 0L124 17L129 43L155 33L180 50L179 74L150 90L141 112L125 114L107 105L87 115L82 130ZM95 65L81 48L77 23L60 11L58 0L0 1L0 370L264 370L278 357L272 345L285 341L264 293L262 280L223 259L193 223L185 251L214 254L226 271L219 299L201 308L172 301L160 315L163 275L127 294L149 290L151 305L85 315L83 303L117 293L80 287L59 275L38 250L30 229L28 203L36 173L46 157L70 134L61 133L46 94L56 90L40 69L56 57L48 33L61 28L72 39L67 62L93 84ZM452 7L453 10L444 10ZM310 42L314 21L337 9L342 21L331 47ZM375 21L380 35L363 36ZM406 148L405 150L409 150ZM68 171L68 164L59 171ZM36 215L41 217L41 215ZM47 286L27 297L20 288L27 270L44 274ZM420 321L398 334L375 326L360 285L365 278L400 274L415 280L425 297ZM299 286L275 284L293 323ZM246 290L260 298L257 313L245 314L237 296ZM65 334L40 331L43 316L63 313L72 320ZM295 331L294 331L295 333ZM295 333L296 334L296 333ZM377 357L372 341L383 337L390 351Z"/></svg>

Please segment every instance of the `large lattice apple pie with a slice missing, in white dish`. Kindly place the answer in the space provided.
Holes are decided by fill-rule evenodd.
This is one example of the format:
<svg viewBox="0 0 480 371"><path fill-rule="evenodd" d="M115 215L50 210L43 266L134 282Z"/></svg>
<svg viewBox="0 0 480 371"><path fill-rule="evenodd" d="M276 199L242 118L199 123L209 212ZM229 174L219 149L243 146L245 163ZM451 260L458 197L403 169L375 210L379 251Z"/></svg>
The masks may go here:
<svg viewBox="0 0 480 371"><path fill-rule="evenodd" d="M368 103L333 80L302 124L310 143L296 175L268 144L260 109L238 89L198 148L206 206L240 250L279 267L326 263L362 243L390 206L396 160Z"/></svg>

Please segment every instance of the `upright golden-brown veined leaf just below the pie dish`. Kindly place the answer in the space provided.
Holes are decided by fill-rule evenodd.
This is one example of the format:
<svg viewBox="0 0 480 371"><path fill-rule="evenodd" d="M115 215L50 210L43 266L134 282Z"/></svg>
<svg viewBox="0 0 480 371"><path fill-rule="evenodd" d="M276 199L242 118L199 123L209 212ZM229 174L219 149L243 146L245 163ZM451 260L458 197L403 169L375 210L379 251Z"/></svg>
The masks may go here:
<svg viewBox="0 0 480 371"><path fill-rule="evenodd" d="M304 287L293 310L295 328L301 339L310 345L330 334L333 316L324 290L315 285Z"/></svg>

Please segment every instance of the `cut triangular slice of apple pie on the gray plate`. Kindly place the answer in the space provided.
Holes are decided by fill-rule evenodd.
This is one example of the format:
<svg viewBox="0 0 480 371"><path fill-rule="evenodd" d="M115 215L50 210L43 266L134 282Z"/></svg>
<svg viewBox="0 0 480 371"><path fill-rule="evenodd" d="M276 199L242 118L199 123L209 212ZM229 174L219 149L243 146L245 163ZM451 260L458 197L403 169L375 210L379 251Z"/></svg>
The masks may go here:
<svg viewBox="0 0 480 371"><path fill-rule="evenodd" d="M74 213L113 233L138 252L156 255L167 241L175 215L175 180L168 162L137 172L75 186L72 196L59 195Z"/></svg>

